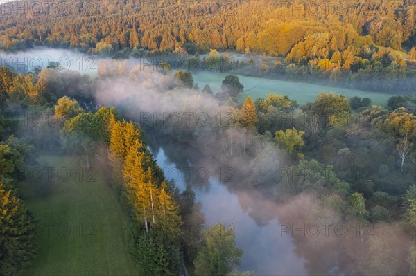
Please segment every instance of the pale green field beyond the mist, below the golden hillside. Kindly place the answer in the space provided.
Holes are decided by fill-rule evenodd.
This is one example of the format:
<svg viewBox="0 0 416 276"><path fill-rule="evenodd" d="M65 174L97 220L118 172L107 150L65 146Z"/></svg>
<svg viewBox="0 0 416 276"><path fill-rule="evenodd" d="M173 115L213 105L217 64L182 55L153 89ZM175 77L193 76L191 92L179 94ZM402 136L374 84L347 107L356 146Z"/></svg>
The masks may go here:
<svg viewBox="0 0 416 276"><path fill-rule="evenodd" d="M212 73L208 71L201 71L193 73L193 80L198 83L200 89L205 84L211 86L212 91L216 93L221 89L221 82L229 73ZM358 96L361 98L370 98L372 104L385 106L388 98L392 95L388 93L379 93L372 91L362 91L356 89L345 89L333 86L324 86L318 84L307 84L303 82L286 82L284 80L270 80L262 77L246 77L237 75L241 84L244 86L244 91L239 95L240 100L245 100L249 95L256 100L257 98L266 98L268 93L288 95L289 98L297 100L298 104L306 104L306 102L313 102L321 91L329 92L335 91L338 94L343 94L347 98Z"/></svg>

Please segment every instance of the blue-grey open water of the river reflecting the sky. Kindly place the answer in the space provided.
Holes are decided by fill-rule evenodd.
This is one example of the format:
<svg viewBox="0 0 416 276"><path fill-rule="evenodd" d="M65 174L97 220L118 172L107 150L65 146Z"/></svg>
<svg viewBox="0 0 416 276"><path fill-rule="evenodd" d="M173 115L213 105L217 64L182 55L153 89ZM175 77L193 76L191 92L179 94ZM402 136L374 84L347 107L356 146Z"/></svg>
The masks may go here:
<svg viewBox="0 0 416 276"><path fill-rule="evenodd" d="M224 166L196 149L156 138L148 142L157 164L166 176L175 179L180 190L184 190L187 182L193 185L206 223L220 221L234 228L236 244L244 250L239 270L254 271L256 275L308 275L304 259L295 254L293 238L279 233L277 203L265 199L257 190L239 188L237 177L226 183L219 181L219 169ZM197 175L198 170L201 176ZM206 175L202 175L203 170L210 174L207 181L203 181Z"/></svg>

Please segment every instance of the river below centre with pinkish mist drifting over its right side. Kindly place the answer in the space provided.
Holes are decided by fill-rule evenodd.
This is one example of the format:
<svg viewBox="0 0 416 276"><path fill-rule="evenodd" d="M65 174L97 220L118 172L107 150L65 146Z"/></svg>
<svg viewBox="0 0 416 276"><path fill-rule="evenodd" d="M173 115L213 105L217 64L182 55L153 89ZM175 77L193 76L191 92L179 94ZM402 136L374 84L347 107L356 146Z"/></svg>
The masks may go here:
<svg viewBox="0 0 416 276"><path fill-rule="evenodd" d="M206 223L199 229L189 226L190 231L203 234L207 225L218 221L234 228L236 246L244 250L238 270L254 271L256 275L343 275L337 266L340 255L336 246L328 246L336 243L336 239L325 237L323 228L319 237L311 237L315 230L292 218L299 210L302 212L300 205L309 208L308 198L277 203L270 194L247 183L238 169L233 168L233 174L219 176L229 166L191 145L160 138L150 129L146 129L145 140L166 178L173 179L182 191L187 183L192 185L196 201L202 203ZM305 226L303 232L302 226ZM311 240L303 243L304 238ZM327 241L322 243L322 239ZM320 246L314 248L315 242ZM325 243L327 250L322 251Z"/></svg>

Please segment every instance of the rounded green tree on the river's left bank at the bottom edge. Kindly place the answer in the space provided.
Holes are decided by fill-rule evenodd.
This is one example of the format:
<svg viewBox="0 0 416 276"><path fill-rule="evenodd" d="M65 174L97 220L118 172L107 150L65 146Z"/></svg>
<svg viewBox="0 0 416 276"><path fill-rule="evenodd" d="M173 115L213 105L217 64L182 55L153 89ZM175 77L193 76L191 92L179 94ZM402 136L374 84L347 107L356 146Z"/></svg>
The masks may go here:
<svg viewBox="0 0 416 276"><path fill-rule="evenodd" d="M236 248L234 230L225 229L221 223L209 226L205 233L205 246L193 264L200 276L226 276L235 266L240 266L243 250Z"/></svg>

